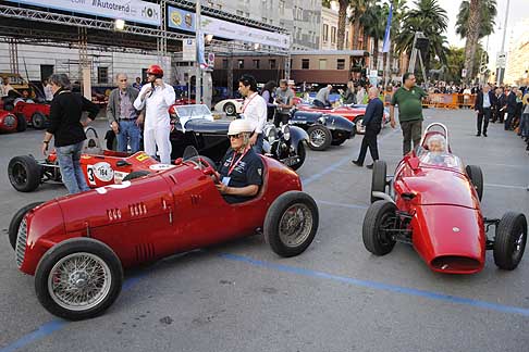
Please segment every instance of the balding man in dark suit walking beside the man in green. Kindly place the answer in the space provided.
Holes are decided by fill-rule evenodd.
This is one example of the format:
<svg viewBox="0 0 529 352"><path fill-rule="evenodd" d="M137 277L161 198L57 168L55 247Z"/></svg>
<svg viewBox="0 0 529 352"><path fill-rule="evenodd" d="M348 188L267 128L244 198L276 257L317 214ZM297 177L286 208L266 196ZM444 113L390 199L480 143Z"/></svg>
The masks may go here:
<svg viewBox="0 0 529 352"><path fill-rule="evenodd" d="M369 103L366 108L366 114L361 124L366 126L366 134L361 140L360 154L357 160L352 163L356 166L362 166L366 159L367 149L371 153L373 162L379 160L379 149L377 147L377 135L382 128L382 115L384 113L384 104L379 99L379 89L377 87L369 88L368 91ZM367 168L373 168L373 164L367 165Z"/></svg>

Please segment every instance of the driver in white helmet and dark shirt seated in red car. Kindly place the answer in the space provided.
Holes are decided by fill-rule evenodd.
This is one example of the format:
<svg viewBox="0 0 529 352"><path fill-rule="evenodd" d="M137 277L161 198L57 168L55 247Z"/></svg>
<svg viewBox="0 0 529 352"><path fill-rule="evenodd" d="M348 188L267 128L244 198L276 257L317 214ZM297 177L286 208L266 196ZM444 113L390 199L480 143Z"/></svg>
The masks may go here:
<svg viewBox="0 0 529 352"><path fill-rule="evenodd" d="M262 160L249 142L253 133L251 125L246 120L233 121L227 129L231 148L217 173L217 189L227 203L241 203L251 199L262 185Z"/></svg>

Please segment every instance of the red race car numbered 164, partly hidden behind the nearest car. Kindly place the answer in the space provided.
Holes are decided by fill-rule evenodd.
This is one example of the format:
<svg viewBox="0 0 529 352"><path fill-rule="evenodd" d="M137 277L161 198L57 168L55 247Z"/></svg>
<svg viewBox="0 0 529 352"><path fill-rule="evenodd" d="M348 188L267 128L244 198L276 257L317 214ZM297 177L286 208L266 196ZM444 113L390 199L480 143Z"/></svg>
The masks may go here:
<svg viewBox="0 0 529 352"><path fill-rule="evenodd" d="M145 152L127 154L102 150L99 138L93 127L85 129L87 139L83 146L81 167L90 188L120 184L137 176L162 171L168 165L147 155ZM32 192L46 181L62 183L56 152L46 160L37 161L32 155L14 156L8 164L11 186L21 192Z"/></svg>

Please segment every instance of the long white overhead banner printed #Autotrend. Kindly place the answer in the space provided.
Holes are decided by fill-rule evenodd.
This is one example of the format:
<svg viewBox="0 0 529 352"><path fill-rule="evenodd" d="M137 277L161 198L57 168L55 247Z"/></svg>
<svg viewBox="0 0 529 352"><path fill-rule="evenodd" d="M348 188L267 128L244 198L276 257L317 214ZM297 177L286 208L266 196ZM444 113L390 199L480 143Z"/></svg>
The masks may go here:
<svg viewBox="0 0 529 352"><path fill-rule="evenodd" d="M46 9L77 12L93 16L124 20L160 26L161 11L158 3L140 0L8 0Z"/></svg>

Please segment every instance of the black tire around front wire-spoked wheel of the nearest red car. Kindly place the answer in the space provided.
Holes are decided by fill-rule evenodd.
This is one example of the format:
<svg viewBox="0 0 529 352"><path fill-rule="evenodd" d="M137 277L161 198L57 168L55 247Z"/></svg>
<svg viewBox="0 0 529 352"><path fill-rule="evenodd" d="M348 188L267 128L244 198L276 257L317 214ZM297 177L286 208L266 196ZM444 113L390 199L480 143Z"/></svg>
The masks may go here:
<svg viewBox="0 0 529 352"><path fill-rule="evenodd" d="M59 305L48 291L48 277L53 266L63 257L75 253L90 253L103 261L110 269L110 289L104 299L88 310L69 310ZM118 255L110 247L91 238L71 238L53 246L40 259L35 273L35 292L42 306L53 315L82 320L104 312L115 301L123 285L123 268Z"/></svg>

